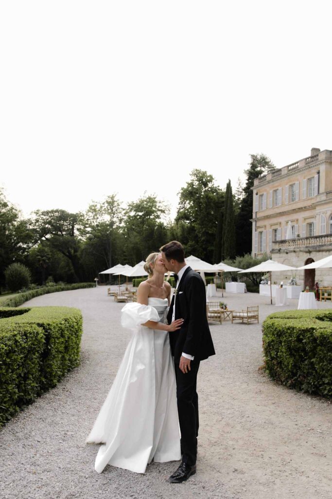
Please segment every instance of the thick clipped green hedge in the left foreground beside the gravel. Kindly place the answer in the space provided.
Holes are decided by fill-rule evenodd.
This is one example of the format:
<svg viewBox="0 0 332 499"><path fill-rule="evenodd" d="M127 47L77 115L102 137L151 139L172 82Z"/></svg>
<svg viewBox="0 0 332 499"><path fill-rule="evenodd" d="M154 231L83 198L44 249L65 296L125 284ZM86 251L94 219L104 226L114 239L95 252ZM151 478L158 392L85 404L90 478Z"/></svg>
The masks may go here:
<svg viewBox="0 0 332 499"><path fill-rule="evenodd" d="M0 426L78 366L77 308L0 308Z"/></svg>

